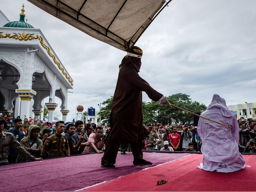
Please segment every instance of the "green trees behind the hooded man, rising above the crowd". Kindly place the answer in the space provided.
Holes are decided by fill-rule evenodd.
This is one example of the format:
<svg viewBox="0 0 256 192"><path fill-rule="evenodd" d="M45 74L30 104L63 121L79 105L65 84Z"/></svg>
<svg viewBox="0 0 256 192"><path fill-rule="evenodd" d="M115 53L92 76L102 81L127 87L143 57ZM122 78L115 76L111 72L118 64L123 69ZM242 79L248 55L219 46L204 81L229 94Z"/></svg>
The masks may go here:
<svg viewBox="0 0 256 192"><path fill-rule="evenodd" d="M168 96L167 99L173 105L181 107L191 112L202 112L206 110L206 105L197 101L192 101L190 96L183 93L173 94ZM109 116L111 113L111 104L113 97L111 96L102 103L104 107L101 108L102 123L109 122ZM161 105L159 102L143 102L142 103L143 123L156 123L171 124L173 119L176 119L180 123L193 122L193 115L180 109L169 107L167 105Z"/></svg>

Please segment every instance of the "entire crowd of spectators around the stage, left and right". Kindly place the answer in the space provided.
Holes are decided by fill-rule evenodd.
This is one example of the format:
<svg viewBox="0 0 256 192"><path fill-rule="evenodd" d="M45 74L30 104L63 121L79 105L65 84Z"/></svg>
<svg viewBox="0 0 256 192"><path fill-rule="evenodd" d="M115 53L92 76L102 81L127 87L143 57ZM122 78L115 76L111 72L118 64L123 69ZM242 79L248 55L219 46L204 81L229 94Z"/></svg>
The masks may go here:
<svg viewBox="0 0 256 192"><path fill-rule="evenodd" d="M256 153L256 122L238 120L239 151ZM145 125L150 134L143 142L144 150L199 151L202 140L197 127L189 124ZM107 124L91 122L43 122L39 119L20 119L8 113L0 115L0 164L39 161L47 158L103 153L106 137L111 130ZM219 146L221 147L221 146ZM129 144L121 144L121 154Z"/></svg>

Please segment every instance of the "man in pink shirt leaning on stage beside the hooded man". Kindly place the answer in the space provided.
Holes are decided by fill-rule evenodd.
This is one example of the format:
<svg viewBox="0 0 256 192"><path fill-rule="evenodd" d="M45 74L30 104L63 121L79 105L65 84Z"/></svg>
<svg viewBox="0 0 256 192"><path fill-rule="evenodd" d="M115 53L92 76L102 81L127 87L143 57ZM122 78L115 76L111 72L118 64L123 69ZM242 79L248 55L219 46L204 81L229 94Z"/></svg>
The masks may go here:
<svg viewBox="0 0 256 192"><path fill-rule="evenodd" d="M82 154L88 154L92 152L103 153L102 148L104 146L104 141L106 135L103 135L103 128L96 127L96 133L91 133L89 136L87 146L85 146Z"/></svg>

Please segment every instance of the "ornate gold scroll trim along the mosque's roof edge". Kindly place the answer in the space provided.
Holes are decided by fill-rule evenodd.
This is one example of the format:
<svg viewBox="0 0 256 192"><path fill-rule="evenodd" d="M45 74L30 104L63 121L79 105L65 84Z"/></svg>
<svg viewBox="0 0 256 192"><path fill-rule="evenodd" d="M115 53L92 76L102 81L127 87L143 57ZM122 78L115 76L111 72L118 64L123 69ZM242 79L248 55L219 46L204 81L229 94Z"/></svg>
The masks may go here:
<svg viewBox="0 0 256 192"><path fill-rule="evenodd" d="M40 35L36 35L36 37L35 36L33 36L34 35L34 33L25 33L25 31L23 31L23 33L22 34L20 34L20 33L13 33L13 34L15 34L15 35L12 35L11 36L11 34L10 33L6 33L6 35L4 35L4 34L2 34L2 33L4 33L4 32L0 32L0 39L1 38L11 38L11 39L18 39L19 41L28 41L28 40L34 40L34 39L39 39L39 42L41 43L41 45L43 46L43 48L45 48L46 49L46 51L47 51L47 53L48 53L48 55L50 56L50 57L52 57L52 59L53 59L53 61L54 61L54 63L56 64L56 65L58 65L58 68L59 68L59 70L61 70L61 72L62 72L62 74L65 76L65 78L69 81L69 83L73 86L74 84L73 84L73 81L71 80L71 78L68 76L68 74L64 71L64 68L62 68L61 67L61 64L57 61L57 59L56 59L56 56L54 55L54 54L52 54L52 52L51 52L51 50L50 50L50 48L45 44L45 41L43 40L43 38L40 36Z"/></svg>

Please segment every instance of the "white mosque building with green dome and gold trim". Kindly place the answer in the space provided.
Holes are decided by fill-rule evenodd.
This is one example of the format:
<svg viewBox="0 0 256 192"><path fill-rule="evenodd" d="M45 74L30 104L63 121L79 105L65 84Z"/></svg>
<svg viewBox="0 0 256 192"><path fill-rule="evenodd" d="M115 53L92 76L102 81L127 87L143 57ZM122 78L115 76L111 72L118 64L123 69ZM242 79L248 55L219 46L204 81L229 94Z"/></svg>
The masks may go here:
<svg viewBox="0 0 256 192"><path fill-rule="evenodd" d="M66 122L73 80L42 31L25 22L24 11L23 5L20 20L10 22L0 10L0 113L42 119L45 105L53 122L57 96Z"/></svg>

